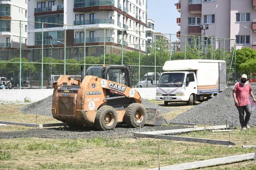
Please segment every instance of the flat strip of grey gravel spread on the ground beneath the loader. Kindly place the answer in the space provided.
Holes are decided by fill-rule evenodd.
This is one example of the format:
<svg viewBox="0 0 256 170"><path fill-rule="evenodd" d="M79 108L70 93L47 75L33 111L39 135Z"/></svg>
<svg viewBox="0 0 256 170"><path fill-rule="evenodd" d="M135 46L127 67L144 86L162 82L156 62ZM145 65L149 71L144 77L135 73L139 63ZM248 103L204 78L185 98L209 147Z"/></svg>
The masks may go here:
<svg viewBox="0 0 256 170"><path fill-rule="evenodd" d="M144 126L141 131L158 131L158 130L171 130L182 129L186 127L181 126ZM114 130L111 131L96 131L93 127L86 127L83 129L70 129L70 128L47 128L47 129L32 129L28 131L10 131L0 132L0 138L132 138L133 133L140 132L140 129L128 128L127 125L118 124Z"/></svg>

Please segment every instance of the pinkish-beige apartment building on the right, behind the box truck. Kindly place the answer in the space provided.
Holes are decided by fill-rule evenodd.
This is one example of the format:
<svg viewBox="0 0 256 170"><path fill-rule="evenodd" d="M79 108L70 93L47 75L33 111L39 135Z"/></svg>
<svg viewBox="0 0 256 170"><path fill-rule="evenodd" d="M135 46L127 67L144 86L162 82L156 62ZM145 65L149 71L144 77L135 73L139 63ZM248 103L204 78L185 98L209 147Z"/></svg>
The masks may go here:
<svg viewBox="0 0 256 170"><path fill-rule="evenodd" d="M177 34L203 35L199 25L208 24L205 35L216 38L236 39L236 48L251 47L256 49L256 1L255 0L180 0L175 4L180 18L177 24L180 31ZM253 27L255 25L255 27ZM248 29L244 28L247 27ZM251 31L252 30L252 37ZM181 42L184 36L177 35ZM252 40L251 40L252 38ZM198 39L196 39L198 42ZM211 41L201 39L206 45ZM191 41L191 37L187 38ZM214 48L224 47L223 41L213 41ZM255 45L254 45L255 44ZM234 46L234 41L225 41L225 48Z"/></svg>

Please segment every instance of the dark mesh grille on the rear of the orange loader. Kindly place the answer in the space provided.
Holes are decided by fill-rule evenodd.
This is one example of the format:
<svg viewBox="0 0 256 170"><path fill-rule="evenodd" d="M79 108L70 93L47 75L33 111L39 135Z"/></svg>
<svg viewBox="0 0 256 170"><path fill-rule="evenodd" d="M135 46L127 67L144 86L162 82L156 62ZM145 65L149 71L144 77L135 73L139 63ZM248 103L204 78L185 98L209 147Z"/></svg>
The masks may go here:
<svg viewBox="0 0 256 170"><path fill-rule="evenodd" d="M58 96L58 115L74 116L74 97Z"/></svg>

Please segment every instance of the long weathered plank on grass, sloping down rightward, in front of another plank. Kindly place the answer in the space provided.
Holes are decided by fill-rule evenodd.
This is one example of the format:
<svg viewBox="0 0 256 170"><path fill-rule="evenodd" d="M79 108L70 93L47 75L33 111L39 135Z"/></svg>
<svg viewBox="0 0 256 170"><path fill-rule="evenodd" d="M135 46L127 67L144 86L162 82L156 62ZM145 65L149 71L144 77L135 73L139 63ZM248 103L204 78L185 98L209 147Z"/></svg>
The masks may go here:
<svg viewBox="0 0 256 170"><path fill-rule="evenodd" d="M134 137L139 138L156 138L156 139L166 139L166 140L177 140L184 142L197 142L197 143L207 143L214 145L236 145L231 141L226 140L215 140L215 139L204 139L204 138L189 138L180 136L169 136L169 135L155 135L155 134L144 134L144 133L134 133Z"/></svg>

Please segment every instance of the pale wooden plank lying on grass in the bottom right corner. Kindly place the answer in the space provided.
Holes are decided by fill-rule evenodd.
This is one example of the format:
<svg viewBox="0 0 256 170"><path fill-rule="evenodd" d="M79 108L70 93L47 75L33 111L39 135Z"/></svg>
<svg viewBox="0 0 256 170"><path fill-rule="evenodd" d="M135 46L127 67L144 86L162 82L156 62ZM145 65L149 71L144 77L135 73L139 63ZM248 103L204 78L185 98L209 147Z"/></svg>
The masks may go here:
<svg viewBox="0 0 256 170"><path fill-rule="evenodd" d="M206 166L214 166L214 165L220 165L225 163L231 163L231 162L239 162L243 160L249 160L254 159L255 153L247 153L243 155L235 155L235 156L228 156L223 158L215 158L215 159L208 159L208 160L202 160L202 161L196 161L196 162L190 162L190 163L184 163L179 165L172 165L172 166L164 166L161 167L161 170L185 170L185 169L193 169L193 168L200 168L200 167L206 167ZM158 170L158 168L153 168L149 170Z"/></svg>

